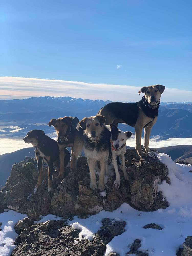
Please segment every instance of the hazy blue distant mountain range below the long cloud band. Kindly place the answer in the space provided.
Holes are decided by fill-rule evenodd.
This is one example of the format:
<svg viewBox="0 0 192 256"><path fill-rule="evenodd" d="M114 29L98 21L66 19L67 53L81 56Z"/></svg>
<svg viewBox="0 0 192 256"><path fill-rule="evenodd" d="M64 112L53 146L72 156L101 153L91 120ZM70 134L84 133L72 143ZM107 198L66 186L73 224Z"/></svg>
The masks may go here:
<svg viewBox="0 0 192 256"><path fill-rule="evenodd" d="M46 134L54 132L47 125L51 118L61 116L77 116L81 120L85 116L97 114L98 110L111 101L75 99L71 97L31 97L22 100L0 100L0 118L4 126L19 126L16 132L10 128L0 127L0 137L18 137L29 130L40 129ZM151 135L160 135L161 139L170 137L192 137L192 103L161 102L156 124ZM121 130L132 131L134 128L119 124Z"/></svg>

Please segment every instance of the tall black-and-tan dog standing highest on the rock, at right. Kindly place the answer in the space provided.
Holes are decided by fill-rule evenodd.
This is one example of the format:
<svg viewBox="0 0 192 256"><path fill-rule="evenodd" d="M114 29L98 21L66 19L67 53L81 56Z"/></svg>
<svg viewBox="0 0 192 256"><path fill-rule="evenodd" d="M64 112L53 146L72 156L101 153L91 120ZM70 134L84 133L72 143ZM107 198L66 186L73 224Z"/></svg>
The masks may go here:
<svg viewBox="0 0 192 256"><path fill-rule="evenodd" d="M142 130L144 128L144 148L148 152L151 128L157 121L160 98L164 90L165 86L160 84L142 87L138 93L141 94L142 92L145 95L139 102L112 102L98 112L98 114L106 117L106 125L114 124L117 126L118 123L125 123L135 127L135 149L141 157L144 155L141 150Z"/></svg>

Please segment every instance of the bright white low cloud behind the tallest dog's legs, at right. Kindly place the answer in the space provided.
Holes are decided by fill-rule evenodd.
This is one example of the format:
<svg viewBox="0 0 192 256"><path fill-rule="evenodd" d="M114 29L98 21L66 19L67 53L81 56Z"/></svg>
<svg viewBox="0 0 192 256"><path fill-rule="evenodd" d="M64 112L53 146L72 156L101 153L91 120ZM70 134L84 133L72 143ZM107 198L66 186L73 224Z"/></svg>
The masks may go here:
<svg viewBox="0 0 192 256"><path fill-rule="evenodd" d="M141 140L141 144L144 143L144 138ZM127 146L135 147L135 136L131 136L126 142ZM177 145L192 145L192 138L168 138L167 140L160 140L160 136L154 136L150 138L149 147L169 147Z"/></svg>

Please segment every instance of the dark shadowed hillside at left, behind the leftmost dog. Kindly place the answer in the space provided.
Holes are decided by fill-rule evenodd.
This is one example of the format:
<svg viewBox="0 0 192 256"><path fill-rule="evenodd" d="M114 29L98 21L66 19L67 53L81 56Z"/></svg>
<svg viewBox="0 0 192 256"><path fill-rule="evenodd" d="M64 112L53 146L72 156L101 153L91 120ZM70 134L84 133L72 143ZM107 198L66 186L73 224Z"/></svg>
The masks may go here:
<svg viewBox="0 0 192 256"><path fill-rule="evenodd" d="M5 182L8 179L12 169L12 165L14 163L19 163L20 161L24 160L25 156L34 157L34 155L35 154L34 154L33 147L23 148L12 153L1 155L0 156L0 173L1 173L0 189L1 189L1 186L5 185Z"/></svg>

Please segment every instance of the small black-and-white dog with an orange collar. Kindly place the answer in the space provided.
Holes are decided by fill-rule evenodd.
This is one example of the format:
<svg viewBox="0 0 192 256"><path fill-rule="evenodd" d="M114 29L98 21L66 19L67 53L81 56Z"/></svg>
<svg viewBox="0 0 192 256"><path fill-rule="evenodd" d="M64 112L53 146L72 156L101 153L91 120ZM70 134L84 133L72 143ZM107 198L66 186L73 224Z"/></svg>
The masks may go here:
<svg viewBox="0 0 192 256"><path fill-rule="evenodd" d="M108 126L108 125L107 125ZM126 180L128 180L128 175L126 173L126 168L125 168L125 150L126 150L126 140L133 135L132 132L122 132L120 131L116 125L111 124L111 154L110 158L112 160L114 169L115 169L115 187L120 186L120 175L119 175L119 170L118 170L118 162L117 162L117 157L120 156L121 163L122 163L122 171L124 174L124 177Z"/></svg>

